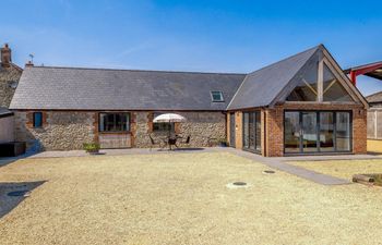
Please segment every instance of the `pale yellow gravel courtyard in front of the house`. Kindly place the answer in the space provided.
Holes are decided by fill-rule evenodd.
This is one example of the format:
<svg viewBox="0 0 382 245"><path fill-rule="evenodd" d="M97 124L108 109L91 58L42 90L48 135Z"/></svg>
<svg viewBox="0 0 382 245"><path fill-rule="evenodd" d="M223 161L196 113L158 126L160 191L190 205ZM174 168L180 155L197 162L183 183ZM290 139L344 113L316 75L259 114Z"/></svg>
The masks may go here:
<svg viewBox="0 0 382 245"><path fill-rule="evenodd" d="M381 242L382 188L267 169L228 152L19 160L0 184L45 182L0 219L0 244Z"/></svg>

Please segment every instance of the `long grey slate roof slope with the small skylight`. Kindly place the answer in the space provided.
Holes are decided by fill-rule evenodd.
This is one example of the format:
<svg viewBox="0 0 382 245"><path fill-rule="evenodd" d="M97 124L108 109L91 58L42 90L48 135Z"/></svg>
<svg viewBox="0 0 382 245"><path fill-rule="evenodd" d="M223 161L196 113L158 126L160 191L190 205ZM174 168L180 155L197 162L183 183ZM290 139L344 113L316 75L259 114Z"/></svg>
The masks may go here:
<svg viewBox="0 0 382 245"><path fill-rule="evenodd" d="M26 68L11 109L225 110L244 74ZM224 102L212 102L211 91Z"/></svg>

